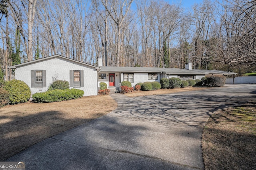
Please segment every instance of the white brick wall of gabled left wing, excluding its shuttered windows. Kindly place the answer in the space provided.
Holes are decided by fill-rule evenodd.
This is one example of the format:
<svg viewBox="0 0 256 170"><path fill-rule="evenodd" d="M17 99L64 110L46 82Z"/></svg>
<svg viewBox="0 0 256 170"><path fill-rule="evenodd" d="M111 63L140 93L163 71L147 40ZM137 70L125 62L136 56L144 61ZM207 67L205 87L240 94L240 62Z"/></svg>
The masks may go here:
<svg viewBox="0 0 256 170"><path fill-rule="evenodd" d="M46 70L46 87L31 88L30 70ZM66 80L69 82L69 70L84 70L84 87L77 88L84 91L84 96L94 96L98 94L97 70L95 68L59 57L20 66L16 68L15 76L16 80L26 82L32 94L34 94L37 92L46 92L53 78L56 78L56 76L58 80Z"/></svg>

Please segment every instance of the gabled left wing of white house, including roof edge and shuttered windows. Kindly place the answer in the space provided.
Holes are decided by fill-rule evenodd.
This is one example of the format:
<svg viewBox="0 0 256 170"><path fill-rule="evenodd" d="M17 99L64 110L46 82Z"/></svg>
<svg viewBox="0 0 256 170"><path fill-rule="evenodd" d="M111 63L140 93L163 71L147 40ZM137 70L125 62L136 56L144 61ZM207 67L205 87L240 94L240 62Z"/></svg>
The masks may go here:
<svg viewBox="0 0 256 170"><path fill-rule="evenodd" d="M70 88L84 91L84 96L94 96L97 90L97 72L99 67L60 55L10 66L15 68L16 80L22 80L31 89L32 94L45 92L54 79L66 80Z"/></svg>

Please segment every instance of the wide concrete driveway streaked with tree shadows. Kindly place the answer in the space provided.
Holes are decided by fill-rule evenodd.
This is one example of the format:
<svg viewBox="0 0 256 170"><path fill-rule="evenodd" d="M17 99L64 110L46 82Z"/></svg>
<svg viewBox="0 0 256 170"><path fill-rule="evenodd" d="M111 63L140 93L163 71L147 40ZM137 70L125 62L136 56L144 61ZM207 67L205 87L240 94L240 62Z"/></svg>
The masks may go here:
<svg viewBox="0 0 256 170"><path fill-rule="evenodd" d="M108 115L12 156L34 169L204 169L202 130L220 109L256 100L256 84L129 98ZM97 107L97 106L92 106Z"/></svg>

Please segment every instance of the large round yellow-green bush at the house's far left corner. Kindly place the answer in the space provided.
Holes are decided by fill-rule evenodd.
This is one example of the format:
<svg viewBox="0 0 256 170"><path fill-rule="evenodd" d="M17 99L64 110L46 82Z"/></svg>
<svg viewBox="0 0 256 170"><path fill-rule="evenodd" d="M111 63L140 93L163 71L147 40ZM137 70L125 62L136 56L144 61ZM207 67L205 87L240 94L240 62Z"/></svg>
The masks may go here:
<svg viewBox="0 0 256 170"><path fill-rule="evenodd" d="M21 80L11 80L6 82L4 83L3 89L7 90L10 94L9 104L28 102L31 96L31 91L28 84Z"/></svg>

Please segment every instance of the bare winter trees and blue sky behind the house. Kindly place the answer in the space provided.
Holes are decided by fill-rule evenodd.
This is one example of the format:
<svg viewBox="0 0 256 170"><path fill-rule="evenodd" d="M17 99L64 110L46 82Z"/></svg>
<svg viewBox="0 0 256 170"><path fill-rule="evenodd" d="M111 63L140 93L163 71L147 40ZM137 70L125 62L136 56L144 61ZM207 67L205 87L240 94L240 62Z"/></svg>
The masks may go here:
<svg viewBox="0 0 256 170"><path fill-rule="evenodd" d="M256 70L256 0L0 0L0 78L59 54L97 65ZM107 61L107 62L106 62ZM12 70L14 71L14 70Z"/></svg>

